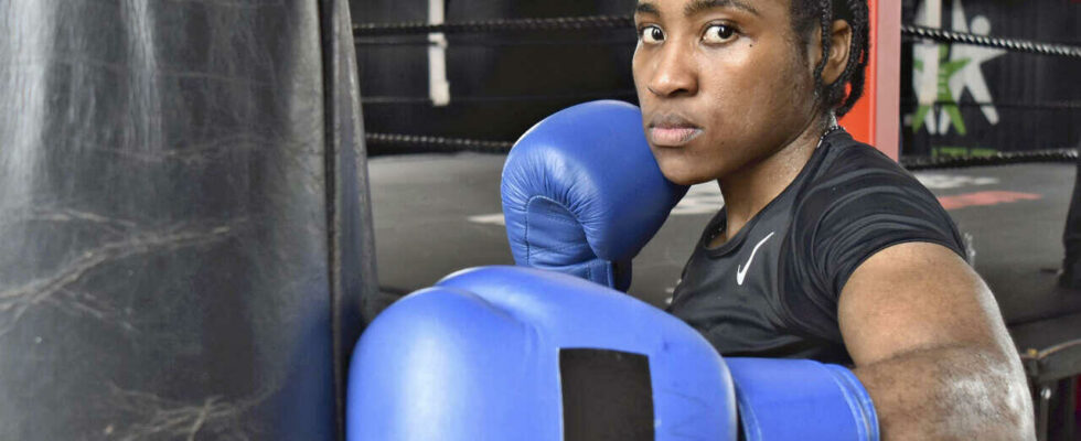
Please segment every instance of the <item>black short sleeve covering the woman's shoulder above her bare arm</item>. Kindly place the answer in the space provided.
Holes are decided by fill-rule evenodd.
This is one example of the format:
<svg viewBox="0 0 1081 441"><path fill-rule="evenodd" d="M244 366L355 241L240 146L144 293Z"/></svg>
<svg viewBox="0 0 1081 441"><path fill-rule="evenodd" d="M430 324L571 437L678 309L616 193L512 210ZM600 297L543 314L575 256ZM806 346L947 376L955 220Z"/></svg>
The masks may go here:
<svg viewBox="0 0 1081 441"><path fill-rule="evenodd" d="M789 243L823 290L839 293L859 263L892 245L933 243L965 256L953 219L909 171L847 133L828 140L796 196Z"/></svg>

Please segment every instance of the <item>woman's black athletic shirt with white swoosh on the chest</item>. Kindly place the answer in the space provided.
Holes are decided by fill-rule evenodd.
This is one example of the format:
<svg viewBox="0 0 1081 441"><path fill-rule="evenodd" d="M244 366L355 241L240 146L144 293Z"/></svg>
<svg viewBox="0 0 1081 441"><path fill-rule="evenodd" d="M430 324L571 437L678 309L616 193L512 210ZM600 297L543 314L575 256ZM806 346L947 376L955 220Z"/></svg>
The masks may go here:
<svg viewBox="0 0 1081 441"><path fill-rule="evenodd" d="M908 171L844 130L826 136L795 180L721 246L725 209L709 222L668 312L725 356L850 364L837 299L875 252L908 241L965 257L934 195Z"/></svg>

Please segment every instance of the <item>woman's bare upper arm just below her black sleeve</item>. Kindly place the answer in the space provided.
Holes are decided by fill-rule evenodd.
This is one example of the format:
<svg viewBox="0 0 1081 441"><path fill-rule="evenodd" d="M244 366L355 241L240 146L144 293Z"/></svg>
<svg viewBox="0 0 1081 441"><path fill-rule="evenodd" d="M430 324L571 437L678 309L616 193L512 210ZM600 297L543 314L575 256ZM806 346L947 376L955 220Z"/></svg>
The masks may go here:
<svg viewBox="0 0 1081 441"><path fill-rule="evenodd" d="M864 260L841 292L837 320L857 367L940 347L1014 352L987 286L936 244L895 245Z"/></svg>

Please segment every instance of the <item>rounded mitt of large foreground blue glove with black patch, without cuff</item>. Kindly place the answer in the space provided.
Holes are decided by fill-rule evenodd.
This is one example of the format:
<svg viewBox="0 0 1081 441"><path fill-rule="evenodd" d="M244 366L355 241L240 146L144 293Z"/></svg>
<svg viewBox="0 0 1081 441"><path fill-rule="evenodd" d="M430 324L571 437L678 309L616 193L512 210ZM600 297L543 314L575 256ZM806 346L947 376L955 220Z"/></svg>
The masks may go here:
<svg viewBox="0 0 1081 441"><path fill-rule="evenodd" d="M353 352L347 441L734 441L732 384L694 329L618 291L520 267L452 275Z"/></svg>

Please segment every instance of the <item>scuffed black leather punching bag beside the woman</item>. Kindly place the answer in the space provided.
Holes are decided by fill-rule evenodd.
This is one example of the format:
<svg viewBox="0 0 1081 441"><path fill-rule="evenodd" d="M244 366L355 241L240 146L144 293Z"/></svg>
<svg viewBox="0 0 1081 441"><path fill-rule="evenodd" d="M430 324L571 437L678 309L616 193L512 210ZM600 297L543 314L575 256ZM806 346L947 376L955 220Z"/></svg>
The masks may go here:
<svg viewBox="0 0 1081 441"><path fill-rule="evenodd" d="M0 0L0 440L341 439L345 0Z"/></svg>

